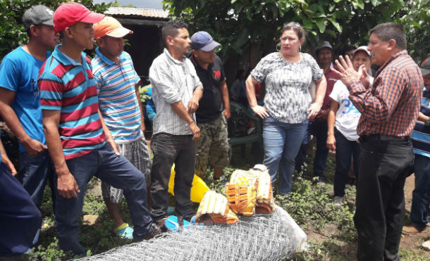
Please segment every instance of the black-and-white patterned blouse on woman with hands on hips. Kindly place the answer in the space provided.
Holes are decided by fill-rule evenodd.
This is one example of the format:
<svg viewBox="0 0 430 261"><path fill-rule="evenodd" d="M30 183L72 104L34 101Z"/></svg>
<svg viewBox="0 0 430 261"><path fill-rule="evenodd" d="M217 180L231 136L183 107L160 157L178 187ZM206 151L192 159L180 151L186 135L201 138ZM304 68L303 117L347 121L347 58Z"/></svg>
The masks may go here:
<svg viewBox="0 0 430 261"><path fill-rule="evenodd" d="M307 53L301 53L298 63L285 61L279 53L270 53L262 58L252 70L257 82L266 84L264 108L274 119L285 123L300 123L307 120L307 110L312 98L309 84L312 79L323 77L317 61Z"/></svg>

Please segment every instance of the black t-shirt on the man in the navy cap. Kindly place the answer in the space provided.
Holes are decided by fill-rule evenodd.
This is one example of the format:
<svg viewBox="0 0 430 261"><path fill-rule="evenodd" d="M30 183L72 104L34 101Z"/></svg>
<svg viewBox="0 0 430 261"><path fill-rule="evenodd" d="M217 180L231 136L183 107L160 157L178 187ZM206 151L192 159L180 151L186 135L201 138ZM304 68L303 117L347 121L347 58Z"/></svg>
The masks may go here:
<svg viewBox="0 0 430 261"><path fill-rule="evenodd" d="M214 63L209 64L209 67L205 70L195 61L194 56L191 57L191 61L194 64L200 82L203 84L203 96L199 101L199 108L195 112L197 123L216 120L223 111L220 90L221 82L226 80L223 63L218 56L215 56Z"/></svg>

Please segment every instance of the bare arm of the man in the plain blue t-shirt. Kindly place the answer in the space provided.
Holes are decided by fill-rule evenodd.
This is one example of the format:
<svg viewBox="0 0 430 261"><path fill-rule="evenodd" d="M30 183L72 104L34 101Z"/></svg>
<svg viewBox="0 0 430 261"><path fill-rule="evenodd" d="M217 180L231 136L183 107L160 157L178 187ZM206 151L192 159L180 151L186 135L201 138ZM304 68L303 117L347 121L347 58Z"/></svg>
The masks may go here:
<svg viewBox="0 0 430 261"><path fill-rule="evenodd" d="M30 138L21 125L18 116L12 108L16 93L0 87L0 114L9 129L15 134L18 141L23 144L28 155L37 155L47 149L41 142Z"/></svg>

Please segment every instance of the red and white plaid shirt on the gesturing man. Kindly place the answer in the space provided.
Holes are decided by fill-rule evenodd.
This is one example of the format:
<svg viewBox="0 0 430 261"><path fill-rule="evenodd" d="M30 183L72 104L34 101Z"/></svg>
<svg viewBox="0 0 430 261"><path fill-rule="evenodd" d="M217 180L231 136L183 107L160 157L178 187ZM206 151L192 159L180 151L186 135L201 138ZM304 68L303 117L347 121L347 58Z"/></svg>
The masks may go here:
<svg viewBox="0 0 430 261"><path fill-rule="evenodd" d="M347 85L349 98L362 113L357 134L410 136L423 85L421 71L406 50L398 51L382 65L369 89L360 80L352 80Z"/></svg>

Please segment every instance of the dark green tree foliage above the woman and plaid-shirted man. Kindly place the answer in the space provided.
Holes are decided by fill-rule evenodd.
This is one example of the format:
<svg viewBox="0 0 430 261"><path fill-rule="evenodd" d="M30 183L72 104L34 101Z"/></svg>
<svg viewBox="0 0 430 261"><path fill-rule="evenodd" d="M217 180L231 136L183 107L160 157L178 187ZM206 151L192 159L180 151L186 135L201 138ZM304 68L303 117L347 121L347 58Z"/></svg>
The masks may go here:
<svg viewBox="0 0 430 261"><path fill-rule="evenodd" d="M383 22L406 25L410 47L422 47L417 56L429 53L429 0L168 0L171 16L189 23L190 30L207 30L223 44L220 55L242 53L249 44L262 53L274 51L281 26L298 22L307 30L307 47L321 40L335 49L367 43L368 32Z"/></svg>

